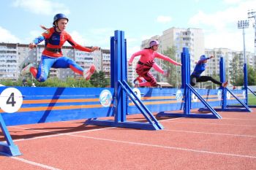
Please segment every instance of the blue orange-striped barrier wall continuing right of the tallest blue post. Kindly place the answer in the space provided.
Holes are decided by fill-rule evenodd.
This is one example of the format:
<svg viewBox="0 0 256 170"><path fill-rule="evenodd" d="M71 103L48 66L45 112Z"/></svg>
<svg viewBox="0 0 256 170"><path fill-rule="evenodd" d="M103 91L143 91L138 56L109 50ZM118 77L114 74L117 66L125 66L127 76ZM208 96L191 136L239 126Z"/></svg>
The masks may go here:
<svg viewBox="0 0 256 170"><path fill-rule="evenodd" d="M174 111L174 110L182 110L183 102L182 95L183 89L176 88L138 88L141 93L141 101L143 104L148 107L151 112L164 112L164 111ZM211 107L221 107L221 97L222 90L215 89L196 89L197 93L211 105ZM242 101L244 101L244 90L232 90L233 93L236 94ZM228 95L228 94L227 94ZM227 97L227 104L239 104L236 98L233 96ZM203 103L195 98L192 94L192 104L191 109L197 109L204 107ZM129 100L128 107L129 114L138 113L138 109L135 107L135 104Z"/></svg>

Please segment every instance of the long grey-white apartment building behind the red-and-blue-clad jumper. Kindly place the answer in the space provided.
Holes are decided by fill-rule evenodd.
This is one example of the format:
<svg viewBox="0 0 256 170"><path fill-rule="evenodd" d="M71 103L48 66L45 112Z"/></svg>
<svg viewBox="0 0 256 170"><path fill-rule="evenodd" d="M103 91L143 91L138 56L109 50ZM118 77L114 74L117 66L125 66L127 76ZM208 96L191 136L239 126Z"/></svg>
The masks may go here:
<svg viewBox="0 0 256 170"><path fill-rule="evenodd" d="M29 45L17 43L0 43L0 79L10 79L16 81L21 77L20 71L29 63L34 66L39 64L42 51L45 45L37 45L34 49L29 49ZM91 64L96 66L97 71L105 72L106 77L110 77L110 50L97 50L94 53L87 53L75 50L71 46L63 46L64 56L72 58L84 69L89 69ZM29 75L28 75L29 76ZM71 69L50 69L50 77L58 77L61 80L67 77L80 78L80 74L72 72Z"/></svg>

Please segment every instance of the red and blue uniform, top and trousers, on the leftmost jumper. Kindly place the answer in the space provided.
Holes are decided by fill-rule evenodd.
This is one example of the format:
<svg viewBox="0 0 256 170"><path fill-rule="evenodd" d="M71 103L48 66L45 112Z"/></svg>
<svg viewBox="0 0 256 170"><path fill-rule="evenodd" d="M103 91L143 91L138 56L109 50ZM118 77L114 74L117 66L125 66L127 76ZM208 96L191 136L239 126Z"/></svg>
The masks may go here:
<svg viewBox="0 0 256 170"><path fill-rule="evenodd" d="M45 50L42 52L42 58L37 69L35 77L39 82L47 80L50 68L70 68L73 72L83 74L83 68L75 63L71 58L62 55L61 47L67 41L75 49L91 52L91 49L78 45L72 37L66 32L57 32L55 27L49 28L42 36L34 39L34 44L37 45L45 40Z"/></svg>

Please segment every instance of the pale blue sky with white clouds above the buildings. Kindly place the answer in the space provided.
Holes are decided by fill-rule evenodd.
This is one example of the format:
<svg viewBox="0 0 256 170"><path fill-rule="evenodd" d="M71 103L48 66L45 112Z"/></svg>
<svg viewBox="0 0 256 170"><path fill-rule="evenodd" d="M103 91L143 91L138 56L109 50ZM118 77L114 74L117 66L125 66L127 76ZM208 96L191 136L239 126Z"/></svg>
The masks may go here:
<svg viewBox="0 0 256 170"><path fill-rule="evenodd" d="M128 55L140 50L143 39L162 35L168 28L202 28L206 47L243 50L238 20L256 9L255 0L1 0L0 42L28 44L52 26L53 16L69 18L67 31L80 45L110 48L113 31L122 30ZM252 22L246 30L246 50L254 52Z"/></svg>

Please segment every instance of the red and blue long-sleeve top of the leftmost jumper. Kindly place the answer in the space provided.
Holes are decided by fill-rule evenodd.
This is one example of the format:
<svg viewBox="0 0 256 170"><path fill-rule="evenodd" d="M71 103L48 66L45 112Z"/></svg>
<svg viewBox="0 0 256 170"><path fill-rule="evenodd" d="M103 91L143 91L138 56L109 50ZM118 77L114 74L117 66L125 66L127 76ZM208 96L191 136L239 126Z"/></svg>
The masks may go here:
<svg viewBox="0 0 256 170"><path fill-rule="evenodd" d="M78 45L66 31L57 32L55 27L52 27L46 30L42 34L42 36L37 37L36 39L34 39L33 42L35 45L38 45L40 42L44 40L45 40L45 47L48 47L48 48L61 49L61 47L67 41L75 49L85 51L85 52L91 52L91 49ZM51 52L50 50L45 49L43 50L42 55L58 58L62 56L62 52L60 51L60 53L54 53L54 52Z"/></svg>

